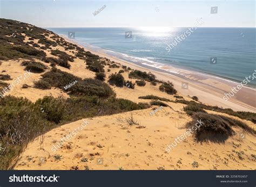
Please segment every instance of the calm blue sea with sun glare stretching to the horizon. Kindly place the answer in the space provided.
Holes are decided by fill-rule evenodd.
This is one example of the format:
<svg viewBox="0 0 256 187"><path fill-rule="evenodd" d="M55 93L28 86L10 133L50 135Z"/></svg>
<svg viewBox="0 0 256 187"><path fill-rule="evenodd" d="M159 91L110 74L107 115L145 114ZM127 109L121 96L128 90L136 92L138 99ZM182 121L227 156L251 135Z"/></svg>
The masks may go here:
<svg viewBox="0 0 256 187"><path fill-rule="evenodd" d="M186 32L186 27L48 29L67 37L73 32L77 43L98 47L134 63L171 65L235 82L256 72L255 28L199 27L181 40L175 38ZM125 37L127 31L130 35ZM180 42L172 50L166 50L167 44L175 44L175 40ZM217 63L211 63L212 58ZM251 80L248 86L256 87L256 80Z"/></svg>

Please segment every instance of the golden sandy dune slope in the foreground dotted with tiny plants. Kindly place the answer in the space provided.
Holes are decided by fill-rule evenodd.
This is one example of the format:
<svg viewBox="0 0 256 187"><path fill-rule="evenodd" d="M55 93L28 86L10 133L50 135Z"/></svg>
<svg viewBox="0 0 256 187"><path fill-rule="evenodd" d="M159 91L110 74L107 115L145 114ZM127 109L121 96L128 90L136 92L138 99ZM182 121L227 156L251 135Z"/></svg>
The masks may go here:
<svg viewBox="0 0 256 187"><path fill-rule="evenodd" d="M167 107L154 116L150 112L151 109L132 112L145 127L140 129L120 120L129 117L130 112L86 119L89 124L55 152L53 145L57 147L60 138L81 126L83 120L53 129L45 134L42 145L39 140L29 144L15 169L256 169L251 156L256 154L255 137L246 134L241 139L240 128L235 128L237 135L225 143L197 143L190 136L166 153L167 144L185 133L183 127L190 117ZM60 160L55 159L56 155L61 156ZM198 167L193 167L194 162Z"/></svg>

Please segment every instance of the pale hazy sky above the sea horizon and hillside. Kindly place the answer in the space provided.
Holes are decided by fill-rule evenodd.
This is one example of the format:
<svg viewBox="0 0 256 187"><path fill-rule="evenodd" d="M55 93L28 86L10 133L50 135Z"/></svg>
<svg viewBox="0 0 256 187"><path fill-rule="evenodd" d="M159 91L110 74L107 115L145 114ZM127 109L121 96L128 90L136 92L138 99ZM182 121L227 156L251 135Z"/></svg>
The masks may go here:
<svg viewBox="0 0 256 187"><path fill-rule="evenodd" d="M0 17L39 27L186 27L199 18L203 27L255 27L255 1L0 0Z"/></svg>

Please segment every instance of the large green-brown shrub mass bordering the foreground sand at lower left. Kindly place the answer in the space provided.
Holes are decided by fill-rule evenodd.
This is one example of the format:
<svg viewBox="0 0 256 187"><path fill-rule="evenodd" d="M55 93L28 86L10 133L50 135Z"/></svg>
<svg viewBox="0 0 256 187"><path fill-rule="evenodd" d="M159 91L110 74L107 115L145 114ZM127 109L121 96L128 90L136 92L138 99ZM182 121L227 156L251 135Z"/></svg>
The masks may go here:
<svg viewBox="0 0 256 187"><path fill-rule="evenodd" d="M16 156L21 154L30 141L57 124L148 107L145 103L137 104L114 97L103 100L98 96L69 99L45 96L36 103L14 96L0 98L0 143L4 148L0 152L0 169L11 169ZM99 113L99 110L102 112Z"/></svg>

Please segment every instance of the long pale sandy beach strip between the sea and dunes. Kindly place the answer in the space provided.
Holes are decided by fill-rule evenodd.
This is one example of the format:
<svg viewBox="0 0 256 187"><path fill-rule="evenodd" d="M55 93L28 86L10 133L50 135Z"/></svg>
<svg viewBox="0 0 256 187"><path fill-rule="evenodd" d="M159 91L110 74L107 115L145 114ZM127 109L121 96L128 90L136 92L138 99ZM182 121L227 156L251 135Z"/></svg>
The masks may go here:
<svg viewBox="0 0 256 187"><path fill-rule="evenodd" d="M223 99L225 96L224 94L231 92L231 89L238 85L237 82L215 77L213 75L208 75L206 73L184 70L176 67L170 68L170 66L167 65L163 67L163 70L161 70L159 68L146 65L146 63L131 63L130 61L111 56L110 54L107 54L103 49L95 51L90 49L90 47L85 47L82 44L79 44L78 41L69 39L62 34L59 36L63 37L70 43L74 43L82 47L86 51L97 54L100 57L109 58L111 61L116 61L117 63L129 66L136 70L146 72L150 71L155 74L159 80L171 81L174 87L177 89L178 93L190 96L196 95L198 96L199 101L208 105L231 108L235 111L256 111L255 88L244 86L237 94L234 94L231 99L225 101ZM181 84L183 82L188 84L188 89L181 88Z"/></svg>

